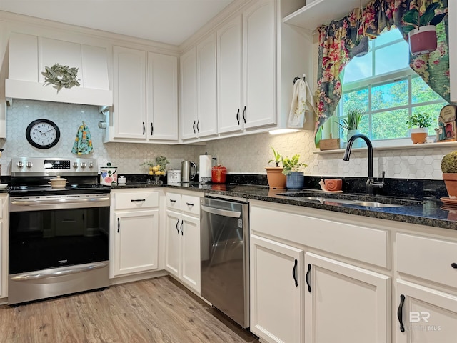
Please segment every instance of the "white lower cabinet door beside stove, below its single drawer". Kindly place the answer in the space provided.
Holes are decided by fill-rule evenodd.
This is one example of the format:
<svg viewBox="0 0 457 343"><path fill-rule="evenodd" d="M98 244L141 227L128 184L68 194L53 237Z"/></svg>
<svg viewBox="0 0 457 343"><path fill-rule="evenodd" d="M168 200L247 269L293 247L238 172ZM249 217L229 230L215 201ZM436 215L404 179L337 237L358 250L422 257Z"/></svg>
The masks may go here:
<svg viewBox="0 0 457 343"><path fill-rule="evenodd" d="M114 276L158 268L159 210L117 212Z"/></svg>

